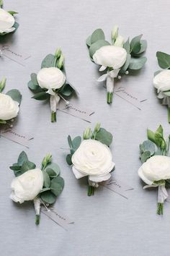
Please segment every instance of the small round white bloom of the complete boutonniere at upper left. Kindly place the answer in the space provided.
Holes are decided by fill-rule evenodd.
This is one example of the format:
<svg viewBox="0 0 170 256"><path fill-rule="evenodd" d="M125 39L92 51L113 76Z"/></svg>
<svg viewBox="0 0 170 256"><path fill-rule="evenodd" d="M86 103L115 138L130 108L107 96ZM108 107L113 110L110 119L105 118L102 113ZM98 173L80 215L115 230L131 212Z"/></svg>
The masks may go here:
<svg viewBox="0 0 170 256"><path fill-rule="evenodd" d="M41 88L55 90L63 86L66 76L57 67L43 68L37 73L37 82Z"/></svg>

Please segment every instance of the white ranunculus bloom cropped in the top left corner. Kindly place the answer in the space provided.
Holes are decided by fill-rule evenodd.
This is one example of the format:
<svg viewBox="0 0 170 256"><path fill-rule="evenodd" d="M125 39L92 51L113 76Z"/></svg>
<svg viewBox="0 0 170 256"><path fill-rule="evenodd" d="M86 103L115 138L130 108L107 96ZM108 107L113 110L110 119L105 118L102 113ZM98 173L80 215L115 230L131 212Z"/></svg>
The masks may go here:
<svg viewBox="0 0 170 256"><path fill-rule="evenodd" d="M6 12L4 9L0 8L0 33L12 32L15 28L14 17L9 12Z"/></svg>

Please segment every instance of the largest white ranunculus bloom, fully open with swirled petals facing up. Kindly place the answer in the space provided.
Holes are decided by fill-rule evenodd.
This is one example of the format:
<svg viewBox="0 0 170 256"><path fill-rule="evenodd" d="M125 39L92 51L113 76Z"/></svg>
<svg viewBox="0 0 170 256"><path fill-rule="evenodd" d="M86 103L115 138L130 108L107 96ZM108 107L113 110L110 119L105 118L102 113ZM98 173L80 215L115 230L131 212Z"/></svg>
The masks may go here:
<svg viewBox="0 0 170 256"><path fill-rule="evenodd" d="M102 182L110 178L115 163L112 162L112 153L102 142L97 140L83 140L73 153L73 174L76 179L89 176L91 182Z"/></svg>

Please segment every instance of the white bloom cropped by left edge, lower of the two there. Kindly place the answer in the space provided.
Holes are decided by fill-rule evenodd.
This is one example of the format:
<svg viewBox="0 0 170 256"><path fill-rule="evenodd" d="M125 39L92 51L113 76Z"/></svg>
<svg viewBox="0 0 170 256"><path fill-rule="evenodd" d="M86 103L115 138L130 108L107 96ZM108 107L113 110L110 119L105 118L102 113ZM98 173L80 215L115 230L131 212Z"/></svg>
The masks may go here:
<svg viewBox="0 0 170 256"><path fill-rule="evenodd" d="M9 95L0 93L0 119L9 120L17 116L19 103L13 101Z"/></svg>

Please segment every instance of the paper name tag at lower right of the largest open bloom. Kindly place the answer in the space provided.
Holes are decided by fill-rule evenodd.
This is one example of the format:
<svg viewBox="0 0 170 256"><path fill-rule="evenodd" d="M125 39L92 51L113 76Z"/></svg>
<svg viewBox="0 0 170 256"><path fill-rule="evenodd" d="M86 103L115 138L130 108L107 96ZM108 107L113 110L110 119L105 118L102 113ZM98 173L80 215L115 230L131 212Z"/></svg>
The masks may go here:
<svg viewBox="0 0 170 256"><path fill-rule="evenodd" d="M124 184L113 177L108 179L106 182L102 182L102 186L106 187L109 190L112 190L113 192L116 192L117 194L125 197L126 199L128 199L127 192L129 190L133 190L132 187L129 187L127 184Z"/></svg>

